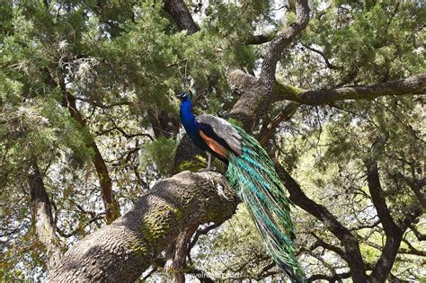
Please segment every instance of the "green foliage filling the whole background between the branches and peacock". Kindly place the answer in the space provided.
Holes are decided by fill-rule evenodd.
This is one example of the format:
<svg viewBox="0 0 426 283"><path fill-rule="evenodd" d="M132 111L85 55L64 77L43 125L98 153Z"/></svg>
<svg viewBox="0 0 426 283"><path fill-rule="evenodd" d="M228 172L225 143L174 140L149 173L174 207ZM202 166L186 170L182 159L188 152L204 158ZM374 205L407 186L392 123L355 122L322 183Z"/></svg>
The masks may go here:
<svg viewBox="0 0 426 283"><path fill-rule="evenodd" d="M420 1L313 0L309 5L309 25L284 52L278 69L277 77L289 91L374 84L425 71L426 9ZM29 203L31 158L42 172L60 239L75 243L104 225L91 143L102 155L124 212L175 170L179 120L172 94L189 79L196 83L191 86L206 90L198 98L197 112L226 114L240 95L230 91L226 72L230 67L258 71L266 49L244 41L253 34L281 31L295 20L293 10L294 1L209 1L197 12L200 31L187 35L164 13L162 1L3 1L0 281L40 281L46 275L46 254ZM279 14L282 19L276 18ZM302 44L322 51L334 67ZM75 97L84 127L71 116L66 93ZM276 117L283 105L273 105L267 118ZM354 233L365 239L361 252L370 263L381 251L369 243L380 248L383 243L380 226L369 227L376 212L364 160L378 135L386 134L377 162L386 203L398 220L417 204L404 180L424 178L423 124L420 96L301 106L281 123L267 147L306 194L343 225L368 226ZM180 169L205 166L203 158L198 161ZM314 217L297 208L292 214L300 247L312 248L313 234L339 245ZM416 224L422 234L424 225L424 219ZM422 248L412 231L405 237ZM244 208L201 237L192 251L195 266L210 272L239 270L244 279L258 279L276 271L262 273L271 260ZM301 259L307 274L328 274L337 266L339 272L347 270L339 256L320 247ZM402 279L421 278L419 261L401 253L392 271Z"/></svg>

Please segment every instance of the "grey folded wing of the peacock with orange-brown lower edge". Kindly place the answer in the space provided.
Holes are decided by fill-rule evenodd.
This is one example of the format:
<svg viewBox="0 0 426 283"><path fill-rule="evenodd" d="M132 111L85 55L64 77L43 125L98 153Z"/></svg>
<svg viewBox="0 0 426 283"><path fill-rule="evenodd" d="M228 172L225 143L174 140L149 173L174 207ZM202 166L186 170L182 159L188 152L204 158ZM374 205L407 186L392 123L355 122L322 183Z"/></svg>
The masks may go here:
<svg viewBox="0 0 426 283"><path fill-rule="evenodd" d="M203 114L197 116L197 120L200 124L200 137L209 146L223 146L226 150L231 150L237 156L242 155L242 137L236 128L226 121L226 119Z"/></svg>

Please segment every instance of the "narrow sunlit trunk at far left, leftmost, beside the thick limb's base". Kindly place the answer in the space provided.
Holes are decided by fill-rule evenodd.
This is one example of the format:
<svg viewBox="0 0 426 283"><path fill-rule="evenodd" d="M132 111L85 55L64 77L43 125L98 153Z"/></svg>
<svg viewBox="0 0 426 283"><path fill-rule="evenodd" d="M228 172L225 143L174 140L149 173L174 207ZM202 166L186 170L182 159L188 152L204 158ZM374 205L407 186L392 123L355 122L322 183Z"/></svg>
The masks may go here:
<svg viewBox="0 0 426 283"><path fill-rule="evenodd" d="M52 217L52 207L48 193L44 188L43 179L35 157L27 174L31 196L31 213L40 242L45 246L48 258L48 270L55 267L62 256L60 240L55 234L56 226Z"/></svg>

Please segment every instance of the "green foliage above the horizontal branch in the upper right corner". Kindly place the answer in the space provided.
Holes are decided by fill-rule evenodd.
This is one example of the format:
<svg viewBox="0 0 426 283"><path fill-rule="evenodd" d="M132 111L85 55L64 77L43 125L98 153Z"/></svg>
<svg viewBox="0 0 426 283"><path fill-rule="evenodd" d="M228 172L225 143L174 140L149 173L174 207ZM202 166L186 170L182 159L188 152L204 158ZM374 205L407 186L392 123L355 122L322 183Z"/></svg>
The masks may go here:
<svg viewBox="0 0 426 283"><path fill-rule="evenodd" d="M297 75L304 88L336 84L374 84L424 72L422 17L424 6L413 2L342 2L311 5L313 17L301 42L324 53L334 70L324 70L319 54L286 56L288 77ZM310 70L309 72L302 72ZM314 84L311 84L314 82Z"/></svg>

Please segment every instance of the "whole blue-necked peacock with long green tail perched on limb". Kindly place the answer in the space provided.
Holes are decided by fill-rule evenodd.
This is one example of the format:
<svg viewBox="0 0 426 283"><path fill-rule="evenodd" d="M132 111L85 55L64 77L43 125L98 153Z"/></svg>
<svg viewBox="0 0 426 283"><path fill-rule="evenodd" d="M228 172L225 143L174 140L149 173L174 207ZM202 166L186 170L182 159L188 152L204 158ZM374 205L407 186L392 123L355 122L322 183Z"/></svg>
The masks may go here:
<svg viewBox="0 0 426 283"><path fill-rule="evenodd" d="M266 251L292 282L305 282L293 243L291 202L269 155L254 137L226 119L207 114L195 117L187 92L177 96L183 128L208 153L207 170L211 155L227 164L226 179L248 208Z"/></svg>

